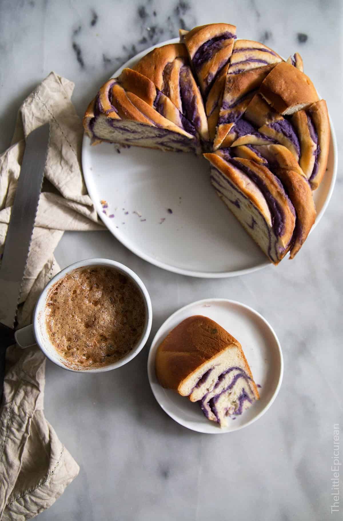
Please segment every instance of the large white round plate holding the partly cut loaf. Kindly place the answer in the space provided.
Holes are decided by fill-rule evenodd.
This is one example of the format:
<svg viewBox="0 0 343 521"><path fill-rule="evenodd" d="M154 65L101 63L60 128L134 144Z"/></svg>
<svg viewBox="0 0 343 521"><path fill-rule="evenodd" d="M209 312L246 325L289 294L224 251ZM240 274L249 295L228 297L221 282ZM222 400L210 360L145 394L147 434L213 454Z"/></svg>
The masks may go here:
<svg viewBox="0 0 343 521"><path fill-rule="evenodd" d="M112 77L124 67L132 67L151 49L131 58ZM336 178L337 145L332 123L331 132L327 172L314 192L315 225L325 211ZM232 277L269 266L265 255L215 194L209 168L203 157L192 154L139 147L121 148L119 154L114 145L91 146L89 138L83 137L83 175L96 211L133 253L156 266L193 277Z"/></svg>

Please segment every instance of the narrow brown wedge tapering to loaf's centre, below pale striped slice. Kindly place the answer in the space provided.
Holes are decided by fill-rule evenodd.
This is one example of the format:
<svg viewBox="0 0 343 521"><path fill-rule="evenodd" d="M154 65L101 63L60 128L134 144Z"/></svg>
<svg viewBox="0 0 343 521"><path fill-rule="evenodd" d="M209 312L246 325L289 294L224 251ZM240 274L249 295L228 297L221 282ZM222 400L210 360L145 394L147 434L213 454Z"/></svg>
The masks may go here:
<svg viewBox="0 0 343 521"><path fill-rule="evenodd" d="M255 65L254 61L251 63ZM231 137L229 136L226 140L228 133L243 116L255 92L274 66L272 64L251 69L247 68L238 74L230 74L229 68L222 105L219 110L213 150L230 145L232 142Z"/></svg>

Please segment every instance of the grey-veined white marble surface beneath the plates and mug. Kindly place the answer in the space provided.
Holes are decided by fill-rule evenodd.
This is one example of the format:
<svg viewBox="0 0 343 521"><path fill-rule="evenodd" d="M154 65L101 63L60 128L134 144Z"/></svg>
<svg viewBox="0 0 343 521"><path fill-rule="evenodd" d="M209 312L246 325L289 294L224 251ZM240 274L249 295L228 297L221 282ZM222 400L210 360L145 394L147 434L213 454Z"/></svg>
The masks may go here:
<svg viewBox="0 0 343 521"><path fill-rule="evenodd" d="M21 101L51 70L75 82L72 100L81 116L127 58L176 36L179 27L212 21L234 23L240 38L260 40L285 57L301 53L327 100L341 152L339 0L2 0L0 150L10 143ZM56 250L61 267L108 257L143 279L153 304L150 341L189 302L235 299L271 322L285 374L263 418L242 431L210 436L179 426L155 402L146 375L149 342L129 365L109 373L75 375L47 363L45 414L80 474L42 521L342 518L342 480L340 511L330 513L333 426L343 427L342 197L339 164L332 201L301 254L234 279L172 274L142 261L106 231L65 233Z"/></svg>

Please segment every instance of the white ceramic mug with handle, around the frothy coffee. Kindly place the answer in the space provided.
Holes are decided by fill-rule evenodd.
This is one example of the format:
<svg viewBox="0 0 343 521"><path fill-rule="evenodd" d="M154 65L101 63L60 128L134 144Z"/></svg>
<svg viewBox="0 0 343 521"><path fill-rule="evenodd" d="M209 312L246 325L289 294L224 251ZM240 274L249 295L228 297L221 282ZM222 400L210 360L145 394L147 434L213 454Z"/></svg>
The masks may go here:
<svg viewBox="0 0 343 521"><path fill-rule="evenodd" d="M79 366L77 364L71 364L68 362L68 366L66 365L66 360L63 358L62 355L60 355L54 348L53 344L51 343L48 332L46 330L45 326L45 306L46 306L46 300L48 292L50 291L50 288L55 284L59 279L62 279L65 275L69 274L71 271L77 269L77 268L87 268L89 266L107 266L110 268L114 268L121 273L125 274L127 277L129 277L134 283L136 283L136 286L140 290L144 304L145 304L145 325L143 334L141 336L141 339L139 340L138 344L123 358L120 358L117 362L113 362L112 364L108 364L102 367L90 367L90 368L83 368L82 366ZM25 349L30 347L31 345L37 344L39 348L43 351L45 356L49 358L54 364L58 365L59 367L63 367L63 369L68 369L70 371L76 371L77 373L102 373L103 371L109 371L111 369L117 369L118 367L127 364L134 358L144 347L146 341L148 340L150 330L151 330L151 324L152 324L152 306L151 306L151 300L148 293L148 290L146 290L143 282L141 279L127 266L124 266L124 264L120 264L115 261L111 261L109 259L102 259L102 258L94 258L94 259L85 259L84 261L79 261L74 264L71 264L70 266L67 266L67 268L60 271L55 277L51 279L50 282L45 286L44 290L42 291L33 312L33 323L30 324L30 326L26 326L24 328L18 329L15 332L15 339L17 344L20 348Z"/></svg>

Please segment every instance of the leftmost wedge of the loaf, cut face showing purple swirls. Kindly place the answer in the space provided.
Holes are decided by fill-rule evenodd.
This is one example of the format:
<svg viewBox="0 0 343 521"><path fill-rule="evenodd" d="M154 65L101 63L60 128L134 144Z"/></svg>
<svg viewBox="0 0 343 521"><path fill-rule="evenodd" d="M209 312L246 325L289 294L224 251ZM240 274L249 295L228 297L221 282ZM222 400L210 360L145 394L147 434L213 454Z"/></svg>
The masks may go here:
<svg viewBox="0 0 343 521"><path fill-rule="evenodd" d="M116 80L107 81L88 106L83 127L93 144L108 141L163 151L200 153L197 136L169 121Z"/></svg>

